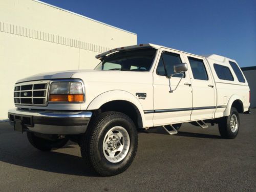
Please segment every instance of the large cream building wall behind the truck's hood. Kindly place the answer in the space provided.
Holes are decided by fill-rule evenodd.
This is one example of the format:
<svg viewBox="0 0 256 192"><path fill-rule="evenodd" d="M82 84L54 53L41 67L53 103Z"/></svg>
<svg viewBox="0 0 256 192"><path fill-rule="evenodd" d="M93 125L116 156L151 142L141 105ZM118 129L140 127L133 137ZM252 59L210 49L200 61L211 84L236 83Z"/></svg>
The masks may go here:
<svg viewBox="0 0 256 192"><path fill-rule="evenodd" d="M0 1L0 120L14 108L16 80L93 69L98 53L137 44L137 35L34 0Z"/></svg>

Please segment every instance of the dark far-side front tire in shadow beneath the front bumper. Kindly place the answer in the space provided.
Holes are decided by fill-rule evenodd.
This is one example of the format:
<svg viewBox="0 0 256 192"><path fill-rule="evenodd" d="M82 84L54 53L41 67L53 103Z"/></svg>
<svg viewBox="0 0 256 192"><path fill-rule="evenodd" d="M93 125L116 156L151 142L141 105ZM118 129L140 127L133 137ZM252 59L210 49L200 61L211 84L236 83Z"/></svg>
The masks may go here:
<svg viewBox="0 0 256 192"><path fill-rule="evenodd" d="M27 137L30 142L35 148L37 148L40 151L51 151L52 148L61 148L64 146L69 139L68 138L62 138L62 139L56 139L56 140L48 140L43 139L40 137L36 137L34 133L27 132Z"/></svg>

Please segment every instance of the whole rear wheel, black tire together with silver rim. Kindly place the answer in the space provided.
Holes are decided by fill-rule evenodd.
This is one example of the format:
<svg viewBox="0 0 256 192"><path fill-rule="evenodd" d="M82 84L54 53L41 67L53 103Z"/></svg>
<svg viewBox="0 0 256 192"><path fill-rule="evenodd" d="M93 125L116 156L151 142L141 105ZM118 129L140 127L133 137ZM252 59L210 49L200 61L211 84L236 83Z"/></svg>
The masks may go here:
<svg viewBox="0 0 256 192"><path fill-rule="evenodd" d="M222 138L233 139L238 135L240 125L239 114L236 108L231 108L230 115L223 117L219 122L219 132Z"/></svg>

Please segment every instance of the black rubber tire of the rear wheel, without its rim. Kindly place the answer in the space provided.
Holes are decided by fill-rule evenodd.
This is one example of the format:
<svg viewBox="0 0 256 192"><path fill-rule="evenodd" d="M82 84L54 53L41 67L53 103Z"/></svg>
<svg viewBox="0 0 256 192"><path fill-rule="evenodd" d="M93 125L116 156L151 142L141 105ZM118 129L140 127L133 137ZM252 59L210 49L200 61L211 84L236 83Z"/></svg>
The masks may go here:
<svg viewBox="0 0 256 192"><path fill-rule="evenodd" d="M238 121L238 127L235 132L231 131L231 123L230 119L232 115L235 115L237 117ZM230 115L226 117L222 117L219 122L219 132L222 138L225 139L234 139L237 137L240 127L240 119L239 119L239 113L236 108L231 107Z"/></svg>

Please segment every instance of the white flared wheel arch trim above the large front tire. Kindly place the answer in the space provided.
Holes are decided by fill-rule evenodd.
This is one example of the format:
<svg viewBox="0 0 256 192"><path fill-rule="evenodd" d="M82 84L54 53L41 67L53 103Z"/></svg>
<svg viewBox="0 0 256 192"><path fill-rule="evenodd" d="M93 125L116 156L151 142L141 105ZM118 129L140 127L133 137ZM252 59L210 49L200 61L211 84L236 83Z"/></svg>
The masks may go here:
<svg viewBox="0 0 256 192"><path fill-rule="evenodd" d="M133 103L138 111L140 112L141 120L143 127L145 125L145 116L144 116L144 111L142 108L141 103L139 100L131 93L127 91L122 91L122 90L112 90L108 92L104 92L100 95L98 95L96 98L94 98L91 103L88 105L87 110L97 110L99 109L103 104L114 101L114 100L123 100L123 101L129 101Z"/></svg>

